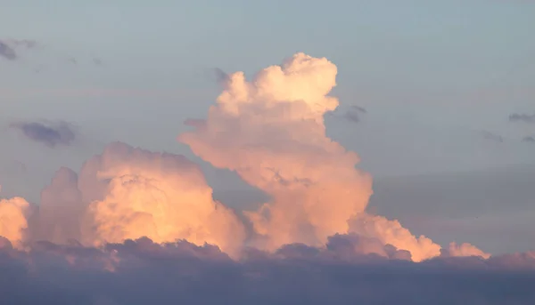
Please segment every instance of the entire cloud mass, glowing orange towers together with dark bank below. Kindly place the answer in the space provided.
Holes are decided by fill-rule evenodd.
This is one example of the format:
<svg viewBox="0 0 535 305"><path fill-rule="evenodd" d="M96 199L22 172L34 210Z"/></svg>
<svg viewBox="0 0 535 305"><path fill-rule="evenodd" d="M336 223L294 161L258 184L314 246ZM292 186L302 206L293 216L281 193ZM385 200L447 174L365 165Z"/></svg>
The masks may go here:
<svg viewBox="0 0 535 305"><path fill-rule="evenodd" d="M532 304L534 253L441 248L366 212L371 176L325 135L336 73L298 53L230 74L207 119L186 121L178 140L271 197L245 213L253 232L198 165L111 143L56 172L38 209L0 201L0 302Z"/></svg>

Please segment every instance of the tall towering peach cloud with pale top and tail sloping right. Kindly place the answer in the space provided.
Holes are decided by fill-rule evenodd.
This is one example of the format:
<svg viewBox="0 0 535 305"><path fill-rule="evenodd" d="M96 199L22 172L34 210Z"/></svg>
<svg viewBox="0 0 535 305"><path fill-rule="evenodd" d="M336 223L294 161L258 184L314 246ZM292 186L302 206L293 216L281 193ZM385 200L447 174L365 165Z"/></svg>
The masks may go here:
<svg viewBox="0 0 535 305"><path fill-rule="evenodd" d="M262 249L325 245L327 237L351 231L407 250L415 261L440 255L440 245L413 237L398 221L366 215L370 175L355 168L355 153L325 135L324 116L339 104L328 95L336 74L329 60L304 53L251 81L243 72L230 74L207 119L178 140L272 197L246 213Z"/></svg>

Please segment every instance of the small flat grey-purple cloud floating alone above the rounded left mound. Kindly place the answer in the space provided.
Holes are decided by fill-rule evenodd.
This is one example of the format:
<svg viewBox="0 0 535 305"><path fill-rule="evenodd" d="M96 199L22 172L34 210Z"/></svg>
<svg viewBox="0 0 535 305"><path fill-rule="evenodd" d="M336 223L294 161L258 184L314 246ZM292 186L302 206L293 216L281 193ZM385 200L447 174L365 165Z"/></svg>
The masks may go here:
<svg viewBox="0 0 535 305"><path fill-rule="evenodd" d="M19 122L11 124L11 127L21 131L29 140L45 144L50 148L56 146L69 146L76 139L76 132L71 124Z"/></svg>

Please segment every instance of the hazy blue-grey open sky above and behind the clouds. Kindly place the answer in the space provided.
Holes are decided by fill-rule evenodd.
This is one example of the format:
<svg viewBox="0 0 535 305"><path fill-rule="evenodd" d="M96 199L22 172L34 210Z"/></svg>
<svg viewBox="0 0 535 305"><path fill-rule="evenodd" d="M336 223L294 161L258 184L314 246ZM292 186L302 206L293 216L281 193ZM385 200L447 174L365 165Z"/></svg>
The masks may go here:
<svg viewBox="0 0 535 305"><path fill-rule="evenodd" d="M464 237L484 250L526 250L514 238L502 248L485 242L491 233L475 227L468 236L444 228L466 217L466 226L478 226L478 217L481 226L505 226L497 229L504 235L534 229L511 215L535 214L535 145L522 141L535 124L508 122L535 112L534 30L535 3L520 0L4 0L0 39L37 47L20 49L17 60L0 57L3 195L37 201L60 166L78 170L111 140L200 163L176 137L217 97L214 68L252 76L307 52L338 66L340 116L351 105L367 110L358 123L328 117L327 132L377 179L383 193L373 208L412 220L404 224L416 234L435 228L426 234L439 242ZM42 119L76 124L80 136L47 148L8 127ZM259 200L236 195L244 183L222 179L233 175L203 167L227 205ZM404 178L416 174L426 176ZM503 189L510 196L498 197ZM415 195L423 191L431 195ZM501 221L485 222L497 215Z"/></svg>

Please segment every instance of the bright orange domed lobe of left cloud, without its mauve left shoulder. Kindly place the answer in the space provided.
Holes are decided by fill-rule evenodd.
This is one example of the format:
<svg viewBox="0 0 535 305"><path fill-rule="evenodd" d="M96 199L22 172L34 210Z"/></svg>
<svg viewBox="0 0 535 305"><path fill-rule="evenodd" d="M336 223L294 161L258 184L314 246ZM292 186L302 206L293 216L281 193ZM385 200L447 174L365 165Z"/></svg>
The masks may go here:
<svg viewBox="0 0 535 305"><path fill-rule="evenodd" d="M86 241L98 245L139 237L157 243L187 239L196 245L219 245L229 253L243 242L242 224L213 200L200 168L185 157L115 143L90 160L82 173L96 173L88 176L96 178L91 184L105 189L88 206Z"/></svg>

